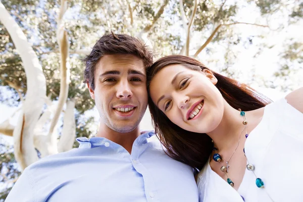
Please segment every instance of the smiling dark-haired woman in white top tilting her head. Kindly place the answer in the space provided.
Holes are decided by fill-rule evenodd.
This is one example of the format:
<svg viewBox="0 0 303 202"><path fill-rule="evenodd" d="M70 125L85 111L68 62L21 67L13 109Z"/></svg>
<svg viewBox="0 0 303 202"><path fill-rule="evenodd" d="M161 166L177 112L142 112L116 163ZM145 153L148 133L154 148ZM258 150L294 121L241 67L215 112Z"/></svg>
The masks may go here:
<svg viewBox="0 0 303 202"><path fill-rule="evenodd" d="M303 201L303 88L272 103L184 56L147 71L156 132L200 170L200 201Z"/></svg>

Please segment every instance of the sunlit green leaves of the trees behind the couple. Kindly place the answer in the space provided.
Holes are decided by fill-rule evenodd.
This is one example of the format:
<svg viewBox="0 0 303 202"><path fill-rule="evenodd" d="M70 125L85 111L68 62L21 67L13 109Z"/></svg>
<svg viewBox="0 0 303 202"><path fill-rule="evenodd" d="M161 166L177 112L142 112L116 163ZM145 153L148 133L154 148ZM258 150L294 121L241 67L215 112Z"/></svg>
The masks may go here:
<svg viewBox="0 0 303 202"><path fill-rule="evenodd" d="M32 44L46 77L46 94L50 95L53 102L56 102L60 92L60 54L56 36L60 1L5 0L2 2ZM192 14L193 2L183 0L181 7L186 15L186 23ZM96 132L93 128L94 118L86 116L94 103L83 83L84 65L80 59L84 58L85 54L79 51L89 50L100 36L111 31L138 36L144 28L152 25L147 32L147 37L153 45L157 58L179 54L186 41L186 31L180 13L180 1L168 1L163 15L155 21L155 16L164 3L165 1L160 0L69 1L69 9L63 21L70 44L71 83L68 99L75 98L76 100L77 137L89 137ZM254 46L257 47L255 57L262 56L264 51L275 47L275 44L268 44L266 34L282 32L289 29L290 26L302 22L303 3L300 1L200 0L191 27L190 55L193 55L207 41L220 24L241 21L237 15L241 9L248 6L259 12L256 23L265 25L268 23L270 29L266 29L262 34L243 36L237 32L236 26L222 26L197 59L212 64L217 68L216 71L220 71L224 75L236 79L241 78L240 72L234 69L234 64L241 51ZM272 27L272 25L275 26ZM247 29L251 29L253 32L254 26L241 26L247 26ZM19 106L21 104L20 95L24 97L26 94L26 75L18 50L1 23L0 40L0 102L11 107ZM292 81L297 79L296 73L302 70L302 49L301 41L288 38L284 41L283 48L279 49L278 68L271 75L273 79L264 80L262 75L252 74L252 72L247 74L250 75L250 79L255 79L255 82L260 80L258 82L260 85L289 91L295 87ZM216 58L215 55L218 53L220 57ZM246 82L251 81L246 80ZM20 94L17 90L20 91ZM74 147L77 145L75 142ZM14 159L13 148L7 144L1 146L0 171L6 173L5 176L8 180L13 180L20 175ZM0 183L5 181L7 179L0 176ZM7 188L1 193L0 202L6 197L10 186Z"/></svg>

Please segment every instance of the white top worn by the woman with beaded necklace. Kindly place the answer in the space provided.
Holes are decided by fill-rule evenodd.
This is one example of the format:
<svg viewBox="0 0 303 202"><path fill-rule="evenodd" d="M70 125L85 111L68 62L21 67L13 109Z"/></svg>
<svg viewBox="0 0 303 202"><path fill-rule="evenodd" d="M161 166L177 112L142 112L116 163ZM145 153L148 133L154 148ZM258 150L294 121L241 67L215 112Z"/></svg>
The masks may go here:
<svg viewBox="0 0 303 202"><path fill-rule="evenodd" d="M281 99L265 107L262 121L245 142L245 155L264 182L246 169L238 191L208 163L198 174L199 201L303 201L303 114ZM272 198L272 199L271 199Z"/></svg>

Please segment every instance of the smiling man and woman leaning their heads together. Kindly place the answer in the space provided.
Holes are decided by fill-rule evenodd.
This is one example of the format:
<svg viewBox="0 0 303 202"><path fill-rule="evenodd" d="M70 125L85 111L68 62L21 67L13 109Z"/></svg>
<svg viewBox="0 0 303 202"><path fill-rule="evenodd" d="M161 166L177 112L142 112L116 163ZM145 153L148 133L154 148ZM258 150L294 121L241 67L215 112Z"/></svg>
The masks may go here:
<svg viewBox="0 0 303 202"><path fill-rule="evenodd" d="M302 200L303 88L271 103L188 57L153 64L125 34L84 61L96 136L26 168L7 202ZM147 103L163 146L138 128Z"/></svg>

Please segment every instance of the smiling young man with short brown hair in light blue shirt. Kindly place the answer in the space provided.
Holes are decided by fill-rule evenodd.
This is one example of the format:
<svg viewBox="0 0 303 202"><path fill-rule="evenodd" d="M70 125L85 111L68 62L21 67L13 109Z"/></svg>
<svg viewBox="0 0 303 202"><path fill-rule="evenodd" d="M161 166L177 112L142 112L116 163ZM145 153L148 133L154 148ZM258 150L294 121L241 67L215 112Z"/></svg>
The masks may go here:
<svg viewBox="0 0 303 202"><path fill-rule="evenodd" d="M84 59L100 115L96 137L26 168L6 202L198 201L192 168L167 155L154 132L140 134L147 107L146 72L153 55L125 34L101 37Z"/></svg>

